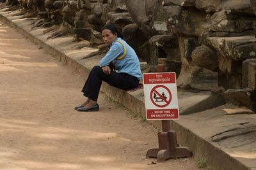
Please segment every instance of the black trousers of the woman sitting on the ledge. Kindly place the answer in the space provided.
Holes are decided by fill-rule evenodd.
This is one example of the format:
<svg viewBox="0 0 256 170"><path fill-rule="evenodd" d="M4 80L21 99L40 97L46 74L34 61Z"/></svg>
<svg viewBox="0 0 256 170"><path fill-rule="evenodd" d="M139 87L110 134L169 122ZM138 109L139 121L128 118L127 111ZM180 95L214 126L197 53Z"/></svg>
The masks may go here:
<svg viewBox="0 0 256 170"><path fill-rule="evenodd" d="M82 89L84 96L97 101L102 81L118 89L129 90L138 87L140 80L129 74L116 73L115 71L111 71L107 75L100 66L94 66Z"/></svg>

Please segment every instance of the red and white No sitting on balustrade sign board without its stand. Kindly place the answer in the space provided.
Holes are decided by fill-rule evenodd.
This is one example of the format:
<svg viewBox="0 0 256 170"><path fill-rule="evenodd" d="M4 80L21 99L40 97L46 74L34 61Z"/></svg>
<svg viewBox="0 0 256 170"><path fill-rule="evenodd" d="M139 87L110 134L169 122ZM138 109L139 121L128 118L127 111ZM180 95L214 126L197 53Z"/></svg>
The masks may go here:
<svg viewBox="0 0 256 170"><path fill-rule="evenodd" d="M143 74L147 120L179 119L175 73Z"/></svg>

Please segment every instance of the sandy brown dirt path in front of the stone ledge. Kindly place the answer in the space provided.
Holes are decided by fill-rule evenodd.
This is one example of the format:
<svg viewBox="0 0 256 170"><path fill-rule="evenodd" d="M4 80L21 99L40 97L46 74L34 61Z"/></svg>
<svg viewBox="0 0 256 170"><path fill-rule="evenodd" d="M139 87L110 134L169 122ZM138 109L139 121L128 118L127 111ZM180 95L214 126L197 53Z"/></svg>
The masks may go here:
<svg viewBox="0 0 256 170"><path fill-rule="evenodd" d="M0 22L0 169L198 169L193 158L146 159L156 130L103 93L100 111L75 111L83 84Z"/></svg>

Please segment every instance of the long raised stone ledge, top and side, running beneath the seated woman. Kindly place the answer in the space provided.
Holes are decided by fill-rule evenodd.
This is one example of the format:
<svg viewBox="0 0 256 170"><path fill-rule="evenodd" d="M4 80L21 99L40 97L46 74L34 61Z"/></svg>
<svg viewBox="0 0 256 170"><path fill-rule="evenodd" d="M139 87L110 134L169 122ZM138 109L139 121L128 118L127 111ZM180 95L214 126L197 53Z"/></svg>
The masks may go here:
<svg viewBox="0 0 256 170"><path fill-rule="evenodd" d="M103 54L84 58L97 49L90 48L86 41L72 43L72 36L46 39L51 32L45 34L44 28L31 29L35 18L20 18L15 12L0 11L1 20L77 72L88 73L102 57ZM106 84L102 85L102 90L130 110L145 115L143 90L125 92ZM181 145L188 146L196 159L205 160L212 169L256 169L255 113L228 104L209 109L204 106L209 92L179 91L178 96L180 113L192 113L171 122ZM161 127L159 121L152 121L152 124Z"/></svg>

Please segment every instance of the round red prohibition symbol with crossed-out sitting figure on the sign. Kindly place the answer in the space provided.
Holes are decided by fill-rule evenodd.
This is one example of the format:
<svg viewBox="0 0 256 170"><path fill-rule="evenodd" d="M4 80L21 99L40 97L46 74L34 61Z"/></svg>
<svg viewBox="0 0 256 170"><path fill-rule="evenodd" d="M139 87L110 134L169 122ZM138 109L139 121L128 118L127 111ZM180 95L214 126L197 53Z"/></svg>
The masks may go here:
<svg viewBox="0 0 256 170"><path fill-rule="evenodd" d="M164 108L172 101L172 92L164 85L156 85L150 92L151 102L159 107Z"/></svg>

